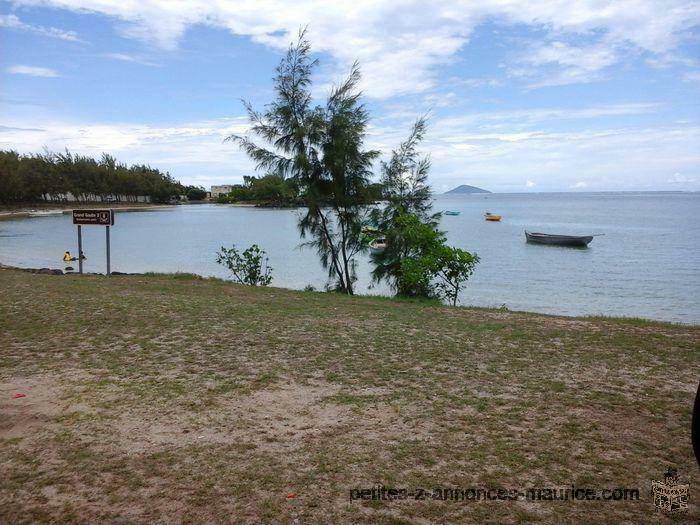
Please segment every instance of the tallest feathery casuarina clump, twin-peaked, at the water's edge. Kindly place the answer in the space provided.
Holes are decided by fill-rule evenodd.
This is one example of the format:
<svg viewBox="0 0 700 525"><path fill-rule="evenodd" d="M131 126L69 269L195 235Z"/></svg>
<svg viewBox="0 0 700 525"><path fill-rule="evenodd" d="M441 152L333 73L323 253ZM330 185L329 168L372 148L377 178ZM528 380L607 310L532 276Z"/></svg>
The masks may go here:
<svg viewBox="0 0 700 525"><path fill-rule="evenodd" d="M360 101L360 70L314 105L311 75L317 61L301 31L277 68L275 99L264 111L246 103L250 135L231 135L259 170L293 177L307 204L299 220L306 246L316 249L329 287L352 294L369 177L377 151L365 148L369 115Z"/></svg>

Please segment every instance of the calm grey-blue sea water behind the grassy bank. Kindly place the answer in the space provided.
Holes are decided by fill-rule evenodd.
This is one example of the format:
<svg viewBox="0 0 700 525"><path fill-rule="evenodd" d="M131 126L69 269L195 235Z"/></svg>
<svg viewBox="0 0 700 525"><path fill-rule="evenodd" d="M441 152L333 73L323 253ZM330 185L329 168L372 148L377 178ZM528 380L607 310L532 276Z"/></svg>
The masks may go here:
<svg viewBox="0 0 700 525"><path fill-rule="evenodd" d="M462 304L700 322L700 194L440 195L434 210L460 211L443 217L442 229L451 244L481 257ZM484 221L486 211L503 221ZM215 262L219 247L257 243L270 257L273 285L322 289L316 254L299 247L298 213L217 205L118 213L112 269L227 277ZM587 249L560 248L527 244L525 229L605 235ZM83 232L85 270L104 272L104 228ZM68 214L0 221L2 263L62 267L65 250L77 252ZM388 293L370 287L369 270L362 256L358 290Z"/></svg>

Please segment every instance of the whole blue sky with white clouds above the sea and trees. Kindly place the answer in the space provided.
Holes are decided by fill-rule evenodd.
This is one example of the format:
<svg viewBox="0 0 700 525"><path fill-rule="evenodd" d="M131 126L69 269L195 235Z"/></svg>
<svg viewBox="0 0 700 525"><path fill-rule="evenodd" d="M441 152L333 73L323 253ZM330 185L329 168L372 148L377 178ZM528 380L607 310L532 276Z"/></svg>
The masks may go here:
<svg viewBox="0 0 700 525"><path fill-rule="evenodd" d="M301 27L319 103L359 61L367 147L430 115L436 192L700 190L697 0L0 0L0 149L239 183Z"/></svg>

